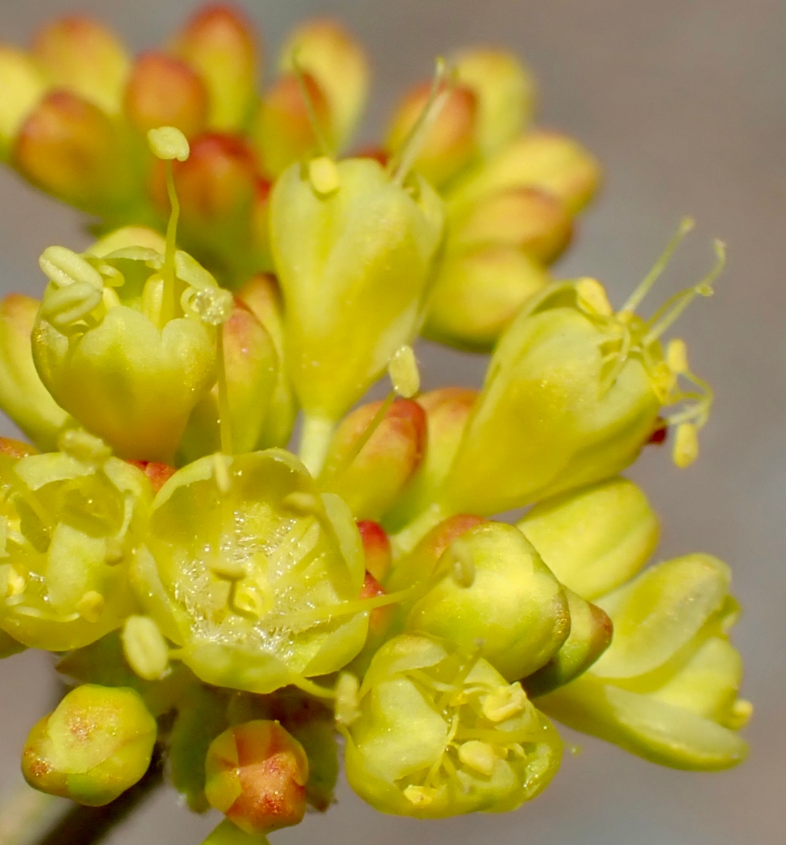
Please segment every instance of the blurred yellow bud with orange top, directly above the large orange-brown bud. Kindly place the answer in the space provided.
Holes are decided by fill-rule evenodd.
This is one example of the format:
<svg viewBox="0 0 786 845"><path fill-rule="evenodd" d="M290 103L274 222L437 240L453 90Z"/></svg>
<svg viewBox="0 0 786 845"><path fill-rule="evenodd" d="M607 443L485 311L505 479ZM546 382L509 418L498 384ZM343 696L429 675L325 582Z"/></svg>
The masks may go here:
<svg viewBox="0 0 786 845"><path fill-rule="evenodd" d="M35 36L33 55L57 88L107 114L120 112L131 60L106 26L84 17L56 20Z"/></svg>

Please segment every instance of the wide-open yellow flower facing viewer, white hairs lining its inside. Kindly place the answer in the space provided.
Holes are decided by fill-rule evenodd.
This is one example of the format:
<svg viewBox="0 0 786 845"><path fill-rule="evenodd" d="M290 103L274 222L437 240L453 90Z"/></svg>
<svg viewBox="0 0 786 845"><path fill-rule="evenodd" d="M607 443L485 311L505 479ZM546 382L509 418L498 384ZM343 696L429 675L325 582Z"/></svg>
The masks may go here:
<svg viewBox="0 0 786 845"><path fill-rule="evenodd" d="M363 550L346 505L283 450L211 455L156 496L133 580L206 683L268 693L366 639Z"/></svg>

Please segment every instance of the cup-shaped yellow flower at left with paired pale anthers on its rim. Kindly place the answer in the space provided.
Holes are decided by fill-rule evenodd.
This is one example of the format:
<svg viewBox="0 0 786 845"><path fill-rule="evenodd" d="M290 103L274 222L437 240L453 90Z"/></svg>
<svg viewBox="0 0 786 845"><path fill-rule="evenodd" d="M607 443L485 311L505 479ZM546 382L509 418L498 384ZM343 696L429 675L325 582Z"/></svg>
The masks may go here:
<svg viewBox="0 0 786 845"><path fill-rule="evenodd" d="M189 255L169 267L147 247L50 247L41 267L50 285L32 345L46 388L118 455L171 463L214 383L215 325L230 294Z"/></svg>

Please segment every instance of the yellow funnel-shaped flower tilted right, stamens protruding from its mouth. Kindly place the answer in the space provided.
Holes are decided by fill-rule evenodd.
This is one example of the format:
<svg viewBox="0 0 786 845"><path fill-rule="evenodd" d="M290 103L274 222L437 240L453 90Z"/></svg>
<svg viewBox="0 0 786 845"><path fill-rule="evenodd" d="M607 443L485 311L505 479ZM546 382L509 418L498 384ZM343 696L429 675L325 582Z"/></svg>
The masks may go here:
<svg viewBox="0 0 786 845"><path fill-rule="evenodd" d="M531 299L496 346L438 494L443 510L494 514L610 477L637 457L663 406L683 404L672 422L706 422L711 392L669 364L659 337L693 297L712 292L722 265L721 255L707 280L648 321L633 308L659 265L618 313L593 279Z"/></svg>

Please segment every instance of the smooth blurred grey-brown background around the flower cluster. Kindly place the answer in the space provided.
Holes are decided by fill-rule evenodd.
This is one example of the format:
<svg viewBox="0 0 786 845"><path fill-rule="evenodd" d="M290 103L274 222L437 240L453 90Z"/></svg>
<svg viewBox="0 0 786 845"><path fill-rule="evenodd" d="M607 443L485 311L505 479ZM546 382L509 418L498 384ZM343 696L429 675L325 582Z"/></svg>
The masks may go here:
<svg viewBox="0 0 786 845"><path fill-rule="evenodd" d="M0 41L25 43L52 14L96 14L136 48L169 35L192 0L2 0ZM398 92L456 46L511 47L539 77L539 122L576 135L599 155L605 186L558 271L596 275L618 305L640 281L681 215L695 232L657 299L711 266L711 237L729 243L713 299L679 326L693 368L717 390L701 460L669 464L648 450L633 469L664 518L663 557L718 554L735 570L745 616L735 643L744 694L756 705L751 757L721 774L652 766L594 739L568 737L551 788L503 816L415 822L378 815L342 788L325 817L274 834L274 845L430 842L461 845L777 845L786 830L786 503L783 243L786 241L786 3L783 0L247 0L269 54L306 15L337 14L375 65L366 136ZM51 243L85 238L68 208L0 172L0 286L41 291L36 258ZM656 300L657 301L657 300ZM420 350L426 382L478 384L484 363ZM6 424L5 431L12 429ZM0 665L0 789L17 777L19 750L50 695L47 658ZM197 845L215 823L161 793L111 845Z"/></svg>

